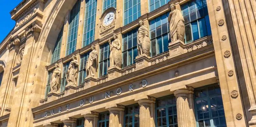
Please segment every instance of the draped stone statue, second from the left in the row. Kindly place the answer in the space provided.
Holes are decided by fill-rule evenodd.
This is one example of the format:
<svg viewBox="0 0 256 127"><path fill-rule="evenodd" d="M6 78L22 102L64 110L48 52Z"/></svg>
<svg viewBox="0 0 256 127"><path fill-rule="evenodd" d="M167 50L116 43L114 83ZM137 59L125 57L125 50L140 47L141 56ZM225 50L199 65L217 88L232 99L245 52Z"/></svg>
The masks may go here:
<svg viewBox="0 0 256 127"><path fill-rule="evenodd" d="M69 67L66 74L67 84L77 84L77 73L78 73L78 61L76 55L72 56L72 61L69 63Z"/></svg>

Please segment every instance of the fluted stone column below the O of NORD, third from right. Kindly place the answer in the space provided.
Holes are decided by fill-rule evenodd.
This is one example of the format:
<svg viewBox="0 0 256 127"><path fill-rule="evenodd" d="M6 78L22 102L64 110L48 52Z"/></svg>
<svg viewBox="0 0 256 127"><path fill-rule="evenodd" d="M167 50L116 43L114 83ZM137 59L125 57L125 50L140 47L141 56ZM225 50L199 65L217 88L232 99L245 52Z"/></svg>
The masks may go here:
<svg viewBox="0 0 256 127"><path fill-rule="evenodd" d="M123 127L124 126L124 106L117 105L108 108L110 112L109 127Z"/></svg>

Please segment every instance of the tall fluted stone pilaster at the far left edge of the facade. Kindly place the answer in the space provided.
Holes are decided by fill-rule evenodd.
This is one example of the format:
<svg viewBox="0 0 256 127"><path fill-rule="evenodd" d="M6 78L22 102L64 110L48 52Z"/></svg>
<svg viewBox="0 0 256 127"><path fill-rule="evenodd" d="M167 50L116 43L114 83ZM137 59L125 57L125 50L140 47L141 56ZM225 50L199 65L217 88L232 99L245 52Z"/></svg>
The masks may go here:
<svg viewBox="0 0 256 127"><path fill-rule="evenodd" d="M15 41L16 40L16 41ZM15 43L16 42L16 43ZM8 102L6 102L8 90L10 87L10 82L12 78L12 71L14 67L14 63L16 60L16 55L19 52L19 46L17 46L17 42L20 42L19 37L12 38L7 46L7 49L9 50L8 54L8 60L6 61L6 67L4 70L3 80L0 87L0 106L1 106L1 113L0 116L4 115L4 109ZM14 45L16 44L16 45ZM10 102L12 103L12 102Z"/></svg>

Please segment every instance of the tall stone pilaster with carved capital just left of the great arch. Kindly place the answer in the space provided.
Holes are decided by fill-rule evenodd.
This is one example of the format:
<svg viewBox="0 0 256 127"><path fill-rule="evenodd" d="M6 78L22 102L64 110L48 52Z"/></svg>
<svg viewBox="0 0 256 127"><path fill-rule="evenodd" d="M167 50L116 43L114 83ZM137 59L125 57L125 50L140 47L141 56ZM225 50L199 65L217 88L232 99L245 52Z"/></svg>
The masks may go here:
<svg viewBox="0 0 256 127"><path fill-rule="evenodd" d="M41 26L42 24L39 25ZM31 65L31 62L41 31L40 26L38 26L36 22L33 22L28 25L24 33L24 36L26 37L26 45L21 62L20 75L13 98L13 102L15 103L12 104L12 110L8 121L8 126L10 127L22 126L26 123L30 123L30 120L33 120L33 117L28 116L31 114L24 114L26 114L27 108L32 108L32 105L30 105L31 101L38 101L32 100L33 98L29 98L30 92L26 91L30 91L32 89L31 85L28 86L29 71L31 68L37 68L37 65Z"/></svg>

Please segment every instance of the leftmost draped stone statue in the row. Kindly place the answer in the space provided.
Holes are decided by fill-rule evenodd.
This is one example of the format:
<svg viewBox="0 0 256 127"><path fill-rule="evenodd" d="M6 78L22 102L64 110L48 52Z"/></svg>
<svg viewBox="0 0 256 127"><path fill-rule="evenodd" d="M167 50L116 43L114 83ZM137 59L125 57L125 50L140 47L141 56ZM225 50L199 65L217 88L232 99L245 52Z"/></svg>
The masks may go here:
<svg viewBox="0 0 256 127"><path fill-rule="evenodd" d="M61 81L61 70L59 68L59 65L55 63L55 69L51 75L51 82L50 82L51 91L55 91L55 92L59 91L60 81Z"/></svg>

